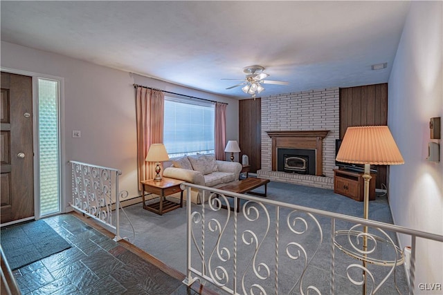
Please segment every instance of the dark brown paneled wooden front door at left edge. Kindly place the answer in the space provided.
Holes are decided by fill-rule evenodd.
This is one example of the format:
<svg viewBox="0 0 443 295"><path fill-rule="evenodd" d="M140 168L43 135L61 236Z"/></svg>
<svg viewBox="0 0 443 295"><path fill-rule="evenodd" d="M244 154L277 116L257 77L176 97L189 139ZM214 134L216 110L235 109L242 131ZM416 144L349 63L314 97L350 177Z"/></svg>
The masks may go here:
<svg viewBox="0 0 443 295"><path fill-rule="evenodd" d="M1 73L1 223L34 216L32 77Z"/></svg>

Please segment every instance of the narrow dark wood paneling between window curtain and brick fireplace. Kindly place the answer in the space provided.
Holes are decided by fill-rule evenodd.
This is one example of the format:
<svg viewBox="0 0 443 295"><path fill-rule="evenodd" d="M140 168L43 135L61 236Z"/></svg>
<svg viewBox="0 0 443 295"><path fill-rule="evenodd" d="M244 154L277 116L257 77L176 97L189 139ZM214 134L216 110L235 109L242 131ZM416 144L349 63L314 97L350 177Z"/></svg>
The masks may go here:
<svg viewBox="0 0 443 295"><path fill-rule="evenodd" d="M248 155L251 172L257 173L262 165L262 102L260 98L241 99L239 113L239 162Z"/></svg>

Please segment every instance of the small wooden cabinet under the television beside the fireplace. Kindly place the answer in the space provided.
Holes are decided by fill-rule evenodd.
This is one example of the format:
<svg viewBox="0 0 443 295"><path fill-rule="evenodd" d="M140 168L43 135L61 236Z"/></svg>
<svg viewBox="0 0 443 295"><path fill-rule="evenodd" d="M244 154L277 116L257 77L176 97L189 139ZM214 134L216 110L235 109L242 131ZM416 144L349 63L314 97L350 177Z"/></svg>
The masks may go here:
<svg viewBox="0 0 443 295"><path fill-rule="evenodd" d="M365 180L363 173L346 169L334 169L334 193L363 202L365 196ZM371 173L369 182L369 200L375 200L375 174Z"/></svg>

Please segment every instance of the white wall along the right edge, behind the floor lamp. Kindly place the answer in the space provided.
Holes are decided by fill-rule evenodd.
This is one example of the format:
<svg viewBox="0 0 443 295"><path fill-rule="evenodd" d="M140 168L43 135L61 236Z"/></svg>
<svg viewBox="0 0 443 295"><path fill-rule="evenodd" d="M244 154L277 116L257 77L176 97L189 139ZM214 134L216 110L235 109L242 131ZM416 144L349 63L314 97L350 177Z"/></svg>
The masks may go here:
<svg viewBox="0 0 443 295"><path fill-rule="evenodd" d="M443 117L443 2L413 1L389 79L388 126L405 164L390 166L395 224L443 234L443 162L427 162L429 119ZM442 144L442 140L433 140ZM401 247L410 240L401 237ZM443 284L443 245L417 240L415 286ZM428 288L431 288L428 285ZM441 294L442 289L435 291ZM426 291L426 294L432 294Z"/></svg>

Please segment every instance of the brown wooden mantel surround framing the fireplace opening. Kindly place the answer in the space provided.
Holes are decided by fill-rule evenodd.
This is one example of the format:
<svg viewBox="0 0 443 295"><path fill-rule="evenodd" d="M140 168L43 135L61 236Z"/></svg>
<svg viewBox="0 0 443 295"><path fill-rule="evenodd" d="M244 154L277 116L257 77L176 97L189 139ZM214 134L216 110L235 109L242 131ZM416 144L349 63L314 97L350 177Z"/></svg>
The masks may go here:
<svg viewBox="0 0 443 295"><path fill-rule="evenodd" d="M316 175L323 174L323 138L329 130L266 131L272 140L272 171L277 171L277 149L315 149Z"/></svg>

